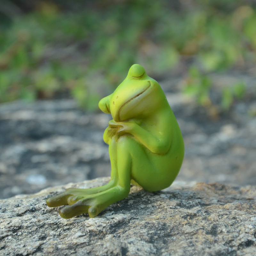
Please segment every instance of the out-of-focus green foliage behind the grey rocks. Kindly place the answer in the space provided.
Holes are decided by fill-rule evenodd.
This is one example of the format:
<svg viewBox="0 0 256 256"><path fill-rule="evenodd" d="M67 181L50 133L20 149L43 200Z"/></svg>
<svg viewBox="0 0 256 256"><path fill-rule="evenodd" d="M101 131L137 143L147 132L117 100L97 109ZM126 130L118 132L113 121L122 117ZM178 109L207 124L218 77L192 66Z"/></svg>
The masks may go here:
<svg viewBox="0 0 256 256"><path fill-rule="evenodd" d="M193 65L184 68L184 91L207 105L208 73L256 64L256 9L249 1L84 2L38 1L17 15L2 10L0 102L68 93L93 110L132 64L161 75L185 58ZM245 87L224 88L221 107Z"/></svg>

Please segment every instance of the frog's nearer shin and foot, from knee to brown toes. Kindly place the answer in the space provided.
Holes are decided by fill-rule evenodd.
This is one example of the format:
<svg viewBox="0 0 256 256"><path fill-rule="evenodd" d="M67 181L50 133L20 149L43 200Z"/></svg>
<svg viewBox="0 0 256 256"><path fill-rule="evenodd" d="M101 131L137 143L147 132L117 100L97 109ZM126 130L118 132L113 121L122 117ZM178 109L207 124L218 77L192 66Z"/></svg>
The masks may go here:
<svg viewBox="0 0 256 256"><path fill-rule="evenodd" d="M127 140L130 141L132 139L122 137L117 142L111 140L109 144L111 166L115 170L112 177L114 185L112 184L112 187L110 186L105 191L91 195L86 194L86 190L82 189L79 191L80 193L77 191L76 195L68 193L71 190L65 192L66 194L62 197L60 195L59 201L61 201L61 205L69 204L69 206L60 210L60 216L62 218L69 219L85 212L88 212L90 217L95 217L110 204L128 196L130 192L132 159L128 152L131 148L127 145ZM55 205L52 205L52 207Z"/></svg>

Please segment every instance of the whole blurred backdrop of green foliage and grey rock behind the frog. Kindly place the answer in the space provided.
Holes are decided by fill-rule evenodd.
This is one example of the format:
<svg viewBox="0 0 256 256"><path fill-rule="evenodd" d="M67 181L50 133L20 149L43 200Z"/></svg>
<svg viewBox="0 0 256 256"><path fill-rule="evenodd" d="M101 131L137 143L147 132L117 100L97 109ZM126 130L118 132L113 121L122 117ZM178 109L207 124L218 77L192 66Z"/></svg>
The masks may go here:
<svg viewBox="0 0 256 256"><path fill-rule="evenodd" d="M2 0L0 198L110 175L98 102L134 63L180 124L178 180L255 184L255 1Z"/></svg>

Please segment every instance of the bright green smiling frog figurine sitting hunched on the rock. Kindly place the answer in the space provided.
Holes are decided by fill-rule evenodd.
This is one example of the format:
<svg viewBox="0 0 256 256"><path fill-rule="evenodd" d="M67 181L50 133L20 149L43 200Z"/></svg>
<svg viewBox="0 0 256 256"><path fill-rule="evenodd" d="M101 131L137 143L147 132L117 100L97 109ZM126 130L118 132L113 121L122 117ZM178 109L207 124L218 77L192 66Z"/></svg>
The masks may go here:
<svg viewBox="0 0 256 256"><path fill-rule="evenodd" d="M102 187L69 188L48 198L50 207L68 205L60 210L64 219L86 212L97 216L127 197L131 183L151 192L167 188L183 161L184 142L172 109L160 85L140 65L132 65L99 107L113 118L103 135L109 145L111 179Z"/></svg>

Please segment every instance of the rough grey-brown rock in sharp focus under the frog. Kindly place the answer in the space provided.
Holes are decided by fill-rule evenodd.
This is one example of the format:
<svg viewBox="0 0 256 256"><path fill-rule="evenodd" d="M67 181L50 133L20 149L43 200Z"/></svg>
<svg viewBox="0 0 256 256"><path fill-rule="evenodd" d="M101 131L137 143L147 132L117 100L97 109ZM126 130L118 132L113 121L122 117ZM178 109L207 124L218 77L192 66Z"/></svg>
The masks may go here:
<svg viewBox="0 0 256 256"><path fill-rule="evenodd" d="M108 178L47 188L0 200L0 254L55 256L253 256L256 252L256 187L175 181L129 196L90 219L64 220L46 198L64 188L91 188Z"/></svg>

